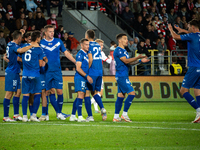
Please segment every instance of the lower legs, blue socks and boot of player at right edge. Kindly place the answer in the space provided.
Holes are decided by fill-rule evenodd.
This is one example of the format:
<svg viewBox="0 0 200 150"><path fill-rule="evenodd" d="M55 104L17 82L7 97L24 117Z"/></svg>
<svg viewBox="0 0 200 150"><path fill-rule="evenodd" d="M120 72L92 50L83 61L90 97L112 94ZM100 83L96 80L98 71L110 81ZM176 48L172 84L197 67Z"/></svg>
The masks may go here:
<svg viewBox="0 0 200 150"><path fill-rule="evenodd" d="M189 93L189 89L181 87L180 93L187 100L187 102L197 111L196 117L193 123L200 123L200 89L194 88L194 95L196 97L196 101L194 97Z"/></svg>

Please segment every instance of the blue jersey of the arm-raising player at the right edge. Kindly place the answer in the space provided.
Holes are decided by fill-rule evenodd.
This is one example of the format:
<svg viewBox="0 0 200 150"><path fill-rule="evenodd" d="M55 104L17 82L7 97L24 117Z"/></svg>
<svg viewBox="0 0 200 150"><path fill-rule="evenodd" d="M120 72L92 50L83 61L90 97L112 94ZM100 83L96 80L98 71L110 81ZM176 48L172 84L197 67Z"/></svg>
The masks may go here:
<svg viewBox="0 0 200 150"><path fill-rule="evenodd" d="M180 35L181 40L188 41L188 66L200 67L200 33Z"/></svg>

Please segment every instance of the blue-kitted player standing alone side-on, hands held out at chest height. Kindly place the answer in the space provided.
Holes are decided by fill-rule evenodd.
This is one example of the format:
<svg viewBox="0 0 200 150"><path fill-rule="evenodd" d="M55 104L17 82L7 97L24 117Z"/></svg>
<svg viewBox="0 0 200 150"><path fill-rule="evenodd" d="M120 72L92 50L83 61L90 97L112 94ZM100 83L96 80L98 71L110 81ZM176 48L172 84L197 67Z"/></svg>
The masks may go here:
<svg viewBox="0 0 200 150"><path fill-rule="evenodd" d="M146 63L149 61L149 59L147 59L146 56L142 56L142 55L139 55L134 58L129 58L128 52L125 49L125 47L128 45L127 35L124 33L118 34L116 36L116 39L119 44L118 47L114 51L114 59L116 62L115 78L118 84L117 85L118 94L117 94L117 100L115 103L115 115L113 118L113 122L120 122L122 119L126 122L132 122L130 118L128 117L128 110L131 106L132 100L135 97L135 92L129 80L129 75L128 75L129 65L139 63L139 62ZM140 60L138 61L138 59ZM121 111L123 100L126 93L128 94L128 97L125 100L124 111L120 118L119 113Z"/></svg>

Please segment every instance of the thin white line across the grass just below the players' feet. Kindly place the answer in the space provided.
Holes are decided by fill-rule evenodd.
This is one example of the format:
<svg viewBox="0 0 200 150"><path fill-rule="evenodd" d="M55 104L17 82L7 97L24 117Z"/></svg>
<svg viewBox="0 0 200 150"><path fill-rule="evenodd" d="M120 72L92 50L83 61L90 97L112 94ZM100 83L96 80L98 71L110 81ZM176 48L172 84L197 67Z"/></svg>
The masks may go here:
<svg viewBox="0 0 200 150"><path fill-rule="evenodd" d="M92 124L43 124L43 123L0 123L0 125L40 125L40 126L75 126L75 127L110 127L110 128L133 128L133 129L158 129L158 130L184 130L184 131L200 131L200 129L188 128L163 128L163 127L139 127L139 126L121 126L121 125L92 125Z"/></svg>

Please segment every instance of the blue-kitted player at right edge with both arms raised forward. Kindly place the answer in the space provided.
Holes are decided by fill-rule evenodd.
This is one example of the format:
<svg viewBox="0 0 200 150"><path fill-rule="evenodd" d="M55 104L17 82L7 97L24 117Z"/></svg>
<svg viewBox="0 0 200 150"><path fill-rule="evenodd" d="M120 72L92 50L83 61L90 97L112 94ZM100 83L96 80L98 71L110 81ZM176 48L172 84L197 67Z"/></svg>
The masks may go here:
<svg viewBox="0 0 200 150"><path fill-rule="evenodd" d="M188 66L189 69L183 79L180 93L187 100L187 102L196 110L196 117L193 123L200 123L200 22L191 20L188 23L187 34L178 35L173 31L172 26L169 24L169 30L172 37L176 40L187 41L188 49ZM194 97L189 93L189 89L194 88Z"/></svg>

